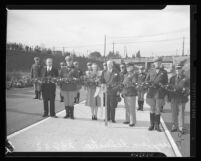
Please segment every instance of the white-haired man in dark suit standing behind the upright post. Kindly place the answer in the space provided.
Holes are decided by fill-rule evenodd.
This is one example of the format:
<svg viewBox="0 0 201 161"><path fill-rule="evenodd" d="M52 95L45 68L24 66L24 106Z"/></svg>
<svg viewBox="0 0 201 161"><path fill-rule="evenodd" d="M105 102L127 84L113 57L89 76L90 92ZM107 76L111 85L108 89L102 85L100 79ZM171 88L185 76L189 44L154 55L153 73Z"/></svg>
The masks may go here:
<svg viewBox="0 0 201 161"><path fill-rule="evenodd" d="M113 61L107 62L107 71L103 73L101 83L107 87L107 119L115 123L115 108L117 107L117 93L119 92L120 76L114 68Z"/></svg>

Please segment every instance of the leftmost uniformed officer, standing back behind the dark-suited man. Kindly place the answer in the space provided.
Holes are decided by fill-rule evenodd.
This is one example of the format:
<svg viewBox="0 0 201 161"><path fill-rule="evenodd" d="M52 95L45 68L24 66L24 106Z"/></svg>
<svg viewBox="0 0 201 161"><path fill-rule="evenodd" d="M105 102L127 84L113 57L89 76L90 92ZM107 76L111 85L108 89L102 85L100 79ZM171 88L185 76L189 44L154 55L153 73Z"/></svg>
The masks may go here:
<svg viewBox="0 0 201 161"><path fill-rule="evenodd" d="M40 65L40 58L34 58L35 63L31 66L31 79L38 79L41 77L42 66ZM35 97L34 99L40 99L41 85L36 81L34 82Z"/></svg>

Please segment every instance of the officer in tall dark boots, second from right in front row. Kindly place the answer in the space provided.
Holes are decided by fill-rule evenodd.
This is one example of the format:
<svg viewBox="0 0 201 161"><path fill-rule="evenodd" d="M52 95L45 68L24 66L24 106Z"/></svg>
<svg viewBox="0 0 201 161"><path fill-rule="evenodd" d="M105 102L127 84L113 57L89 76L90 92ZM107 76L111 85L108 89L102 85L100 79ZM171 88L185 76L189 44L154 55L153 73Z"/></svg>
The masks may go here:
<svg viewBox="0 0 201 161"><path fill-rule="evenodd" d="M167 71L161 68L162 58L154 59L154 68L147 74L145 81L150 82L153 86L148 89L146 102L150 105L150 127L149 130L161 131L160 125L160 108L166 92L161 85L168 83ZM160 85L161 84L161 85Z"/></svg>

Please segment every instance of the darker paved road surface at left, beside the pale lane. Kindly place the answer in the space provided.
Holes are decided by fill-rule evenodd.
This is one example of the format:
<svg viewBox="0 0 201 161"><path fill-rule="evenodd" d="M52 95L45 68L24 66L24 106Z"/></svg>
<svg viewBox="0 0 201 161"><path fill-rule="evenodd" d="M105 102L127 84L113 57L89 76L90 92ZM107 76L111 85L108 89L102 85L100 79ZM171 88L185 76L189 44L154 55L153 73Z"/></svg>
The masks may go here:
<svg viewBox="0 0 201 161"><path fill-rule="evenodd" d="M81 90L80 101L84 99L84 90ZM35 100L33 88L12 88L6 90L6 118L7 135L21 130L35 122L43 120L43 101ZM55 110L64 110L60 102L59 89L56 91Z"/></svg>

